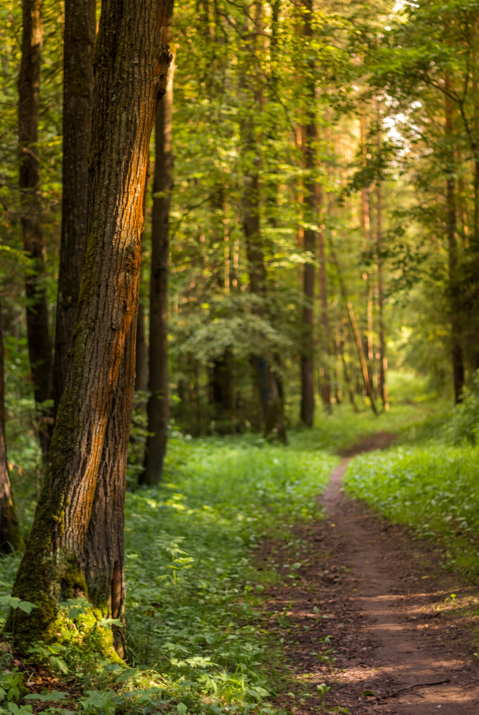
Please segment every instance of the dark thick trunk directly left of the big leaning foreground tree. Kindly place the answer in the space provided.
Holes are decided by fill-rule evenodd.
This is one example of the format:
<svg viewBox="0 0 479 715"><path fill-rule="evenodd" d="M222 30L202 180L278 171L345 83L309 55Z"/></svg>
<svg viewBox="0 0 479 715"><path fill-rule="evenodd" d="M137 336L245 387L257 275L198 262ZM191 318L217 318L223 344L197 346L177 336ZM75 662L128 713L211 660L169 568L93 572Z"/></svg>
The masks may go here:
<svg viewBox="0 0 479 715"><path fill-rule="evenodd" d="M87 236L88 150L92 127L95 0L65 0L63 40L62 238L53 373L58 410L78 310Z"/></svg>

